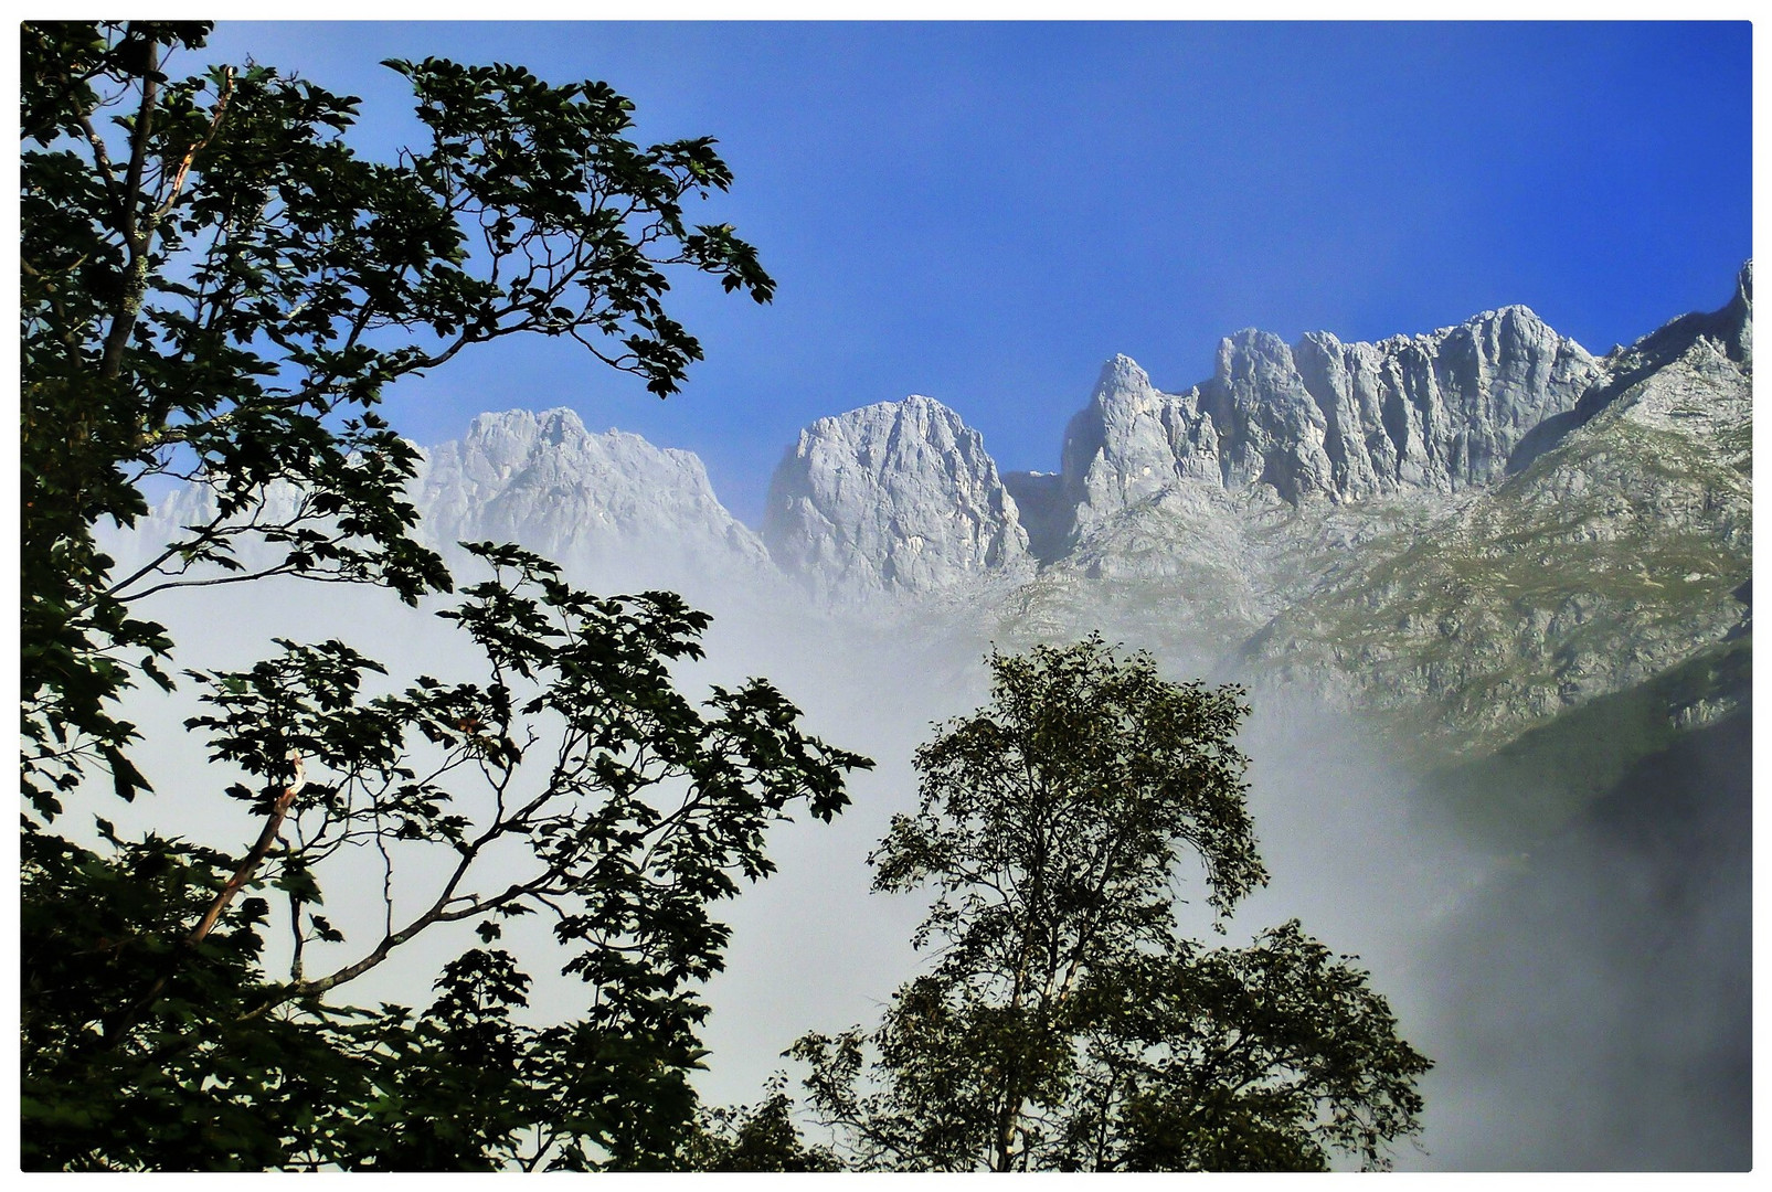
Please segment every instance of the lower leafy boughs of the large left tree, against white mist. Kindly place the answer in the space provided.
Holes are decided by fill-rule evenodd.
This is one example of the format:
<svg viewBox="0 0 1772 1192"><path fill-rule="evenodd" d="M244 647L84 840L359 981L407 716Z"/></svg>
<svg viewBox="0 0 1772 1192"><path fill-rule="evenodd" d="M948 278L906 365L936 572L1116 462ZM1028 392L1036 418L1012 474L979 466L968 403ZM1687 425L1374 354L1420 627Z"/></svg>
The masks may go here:
<svg viewBox="0 0 1772 1192"><path fill-rule="evenodd" d="M197 675L207 710L188 726L266 817L245 859L103 822L112 855L27 834L27 1165L677 1162L695 987L727 942L709 909L771 871L771 822L829 820L867 762L803 735L762 680L691 707L668 668L700 655L707 616L677 597L597 599L516 547L471 551L493 579L447 616L486 684L365 698L379 668L337 641ZM381 926L353 946L319 909L365 850ZM245 889L268 896L236 909ZM269 898L287 979L262 965ZM535 912L588 987L578 1022L512 1022L528 978L484 948L416 1020L324 1001L422 932L478 923L491 944Z"/></svg>

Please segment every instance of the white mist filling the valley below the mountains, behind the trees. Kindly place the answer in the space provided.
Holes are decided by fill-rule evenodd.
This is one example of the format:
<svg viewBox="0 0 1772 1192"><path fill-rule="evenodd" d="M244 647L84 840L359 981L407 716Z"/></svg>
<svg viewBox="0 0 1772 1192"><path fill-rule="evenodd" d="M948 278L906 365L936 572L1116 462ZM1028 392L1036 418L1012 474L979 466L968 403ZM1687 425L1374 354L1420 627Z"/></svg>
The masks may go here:
<svg viewBox="0 0 1772 1192"><path fill-rule="evenodd" d="M989 643L976 627L845 623L762 609L744 593L702 606L716 616L707 659L682 668L691 691L766 675L812 731L877 762L852 778L854 802L833 824L773 829L780 871L716 910L734 937L727 971L707 987L711 1056L696 1088L737 1103L755 1100L771 1072L794 1075L780 1057L794 1038L872 1020L925 962L909 946L923 907L868 893L867 857L888 818L914 804L909 756L930 723L983 700ZM475 670L459 634L386 593L282 581L250 609L225 593L183 592L154 613L184 643L184 666L248 666L276 634L356 645L388 666L390 685ZM1162 670L1194 673L1185 659L1164 659ZM1400 1169L1747 1165L1745 708L1636 765L1542 845L1506 850L1460 832L1356 717L1283 689L1253 707L1240 746L1272 882L1239 910L1228 939L1295 916L1373 972L1403 1036L1435 1061L1423 1084L1426 1130L1419 1148L1400 1149ZM204 742L179 728L193 710L190 684L131 705L151 742L144 758L156 793L112 818L237 848L253 824L218 811L225 767L206 763ZM358 850L335 863L356 887L326 884L328 914L353 944L379 926L379 868L367 861ZM416 900L427 870L420 863L400 880ZM1198 875L1182 884L1184 898L1201 902ZM1191 926L1207 939L1210 914L1193 910ZM354 995L424 1002L432 972L470 939L462 928L429 940ZM544 933L528 946L544 990L535 1020L571 1015L579 983L549 974Z"/></svg>

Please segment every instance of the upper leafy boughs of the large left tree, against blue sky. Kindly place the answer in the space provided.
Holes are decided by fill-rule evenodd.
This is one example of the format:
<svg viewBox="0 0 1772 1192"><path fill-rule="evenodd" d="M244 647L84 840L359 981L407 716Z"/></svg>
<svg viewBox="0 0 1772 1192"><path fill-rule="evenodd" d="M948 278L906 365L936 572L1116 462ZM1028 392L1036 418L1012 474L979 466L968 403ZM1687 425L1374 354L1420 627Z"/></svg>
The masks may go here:
<svg viewBox="0 0 1772 1192"><path fill-rule="evenodd" d="M115 707L136 675L170 684L145 595L271 574L448 588L409 533L416 452L374 411L388 383L537 333L663 397L702 354L663 306L668 267L774 290L728 225L684 221L732 182L714 142L636 145L606 83L388 62L429 143L379 163L344 140L351 96L262 66L174 81L165 58L207 28L23 27L23 770L44 817L92 763L147 788ZM133 526L152 476L211 487L216 514L115 576L94 526ZM298 492L285 515L275 484ZM243 542L273 558L245 567Z"/></svg>

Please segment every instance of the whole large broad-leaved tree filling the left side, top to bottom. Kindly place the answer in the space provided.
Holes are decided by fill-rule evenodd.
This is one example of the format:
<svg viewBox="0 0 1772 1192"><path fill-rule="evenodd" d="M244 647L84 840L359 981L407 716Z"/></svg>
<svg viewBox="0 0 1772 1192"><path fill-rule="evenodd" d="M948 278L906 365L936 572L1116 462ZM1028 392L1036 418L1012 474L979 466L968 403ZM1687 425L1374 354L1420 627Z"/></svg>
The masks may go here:
<svg viewBox="0 0 1772 1192"><path fill-rule="evenodd" d="M666 269L773 290L727 225L684 221L730 172L707 138L631 142L604 83L429 58L388 64L427 142L367 161L353 97L264 66L174 80L206 35L23 27L25 1165L675 1165L727 942L711 909L769 871L767 824L829 818L867 765L766 682L691 705L670 668L707 618L677 597L592 597L473 546L491 577L445 616L480 682L402 689L338 641L191 675L214 765L175 781L262 817L255 840L126 838L92 801L96 779L149 790L119 708L172 685L145 597L452 588L411 537L418 457L374 409L390 381L540 333L675 391L700 347ZM119 574L94 531L133 526L156 476L214 512ZM85 843L57 824L74 799ZM347 939L324 894L365 887L381 923ZM525 1020L530 978L494 946L521 914L585 981L578 1020ZM424 1011L331 1001L452 925L480 946Z"/></svg>

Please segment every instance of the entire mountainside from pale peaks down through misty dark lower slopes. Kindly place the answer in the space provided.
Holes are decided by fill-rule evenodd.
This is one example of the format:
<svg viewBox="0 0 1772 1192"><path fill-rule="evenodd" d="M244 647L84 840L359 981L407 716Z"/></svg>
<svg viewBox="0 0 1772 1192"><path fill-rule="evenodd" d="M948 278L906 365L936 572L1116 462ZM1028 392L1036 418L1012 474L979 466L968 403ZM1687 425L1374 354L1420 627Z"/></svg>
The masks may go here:
<svg viewBox="0 0 1772 1192"><path fill-rule="evenodd" d="M831 971L877 960L840 898L929 719L976 703L987 643L1099 629L1251 687L1263 854L1421 990L1398 1008L1439 1125L1405 1162L1749 1167L1751 266L1604 356L1524 306L1377 344L1239 331L1177 393L1115 356L1058 446L1005 473L930 397L852 409L787 446L753 530L695 455L517 409L427 448L413 498L443 549L684 592L727 634L711 661L882 760L851 838L787 854L804 886L762 903L757 971L808 946L804 907L858 933ZM177 492L138 540L213 514Z"/></svg>

